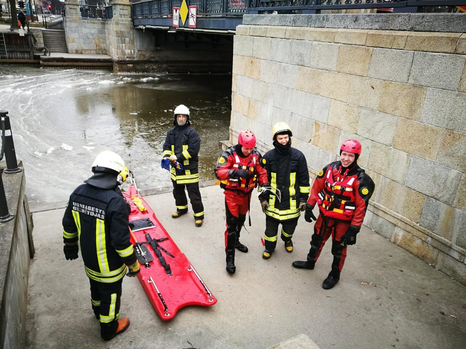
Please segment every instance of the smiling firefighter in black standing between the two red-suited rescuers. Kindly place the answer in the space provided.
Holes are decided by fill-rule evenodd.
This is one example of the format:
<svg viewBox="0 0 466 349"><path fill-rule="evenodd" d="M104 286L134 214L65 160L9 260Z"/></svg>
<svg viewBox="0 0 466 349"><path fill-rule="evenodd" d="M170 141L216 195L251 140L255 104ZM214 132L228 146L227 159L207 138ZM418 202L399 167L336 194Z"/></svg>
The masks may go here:
<svg viewBox="0 0 466 349"><path fill-rule="evenodd" d="M270 195L261 201L265 218L265 250L262 258L269 259L277 246L278 227L282 224L280 238L287 252L293 250L294 229L309 197L309 172L304 154L291 148L291 129L285 122L272 128L274 149L263 157L271 186Z"/></svg>

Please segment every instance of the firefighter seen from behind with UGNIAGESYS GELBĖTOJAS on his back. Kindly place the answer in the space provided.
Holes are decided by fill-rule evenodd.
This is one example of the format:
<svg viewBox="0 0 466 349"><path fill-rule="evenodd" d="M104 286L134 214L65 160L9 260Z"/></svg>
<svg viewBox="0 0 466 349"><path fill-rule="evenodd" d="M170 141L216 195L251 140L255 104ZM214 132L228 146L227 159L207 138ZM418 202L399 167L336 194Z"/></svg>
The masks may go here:
<svg viewBox="0 0 466 349"><path fill-rule="evenodd" d="M121 284L139 273L129 242L128 209L118 188L128 175L124 162L113 151L103 151L92 164L94 175L69 197L63 216L63 252L78 258L78 242L84 269L91 284L92 309L100 320L101 337L108 341L125 331L129 319L119 317Z"/></svg>

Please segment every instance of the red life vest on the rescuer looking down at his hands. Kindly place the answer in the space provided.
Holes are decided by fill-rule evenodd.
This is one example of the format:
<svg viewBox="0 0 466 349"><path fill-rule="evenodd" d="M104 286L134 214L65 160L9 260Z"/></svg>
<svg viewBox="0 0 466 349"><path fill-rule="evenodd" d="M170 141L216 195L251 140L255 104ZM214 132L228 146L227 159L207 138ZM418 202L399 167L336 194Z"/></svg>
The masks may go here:
<svg viewBox="0 0 466 349"><path fill-rule="evenodd" d="M251 192L257 185L257 174L255 171L260 154L257 151L253 151L249 156L241 157L233 151L230 156L233 157L233 170L243 169L254 173L254 176L247 181L244 178L230 178L227 181L222 181L220 186L227 190L240 190L245 193Z"/></svg>

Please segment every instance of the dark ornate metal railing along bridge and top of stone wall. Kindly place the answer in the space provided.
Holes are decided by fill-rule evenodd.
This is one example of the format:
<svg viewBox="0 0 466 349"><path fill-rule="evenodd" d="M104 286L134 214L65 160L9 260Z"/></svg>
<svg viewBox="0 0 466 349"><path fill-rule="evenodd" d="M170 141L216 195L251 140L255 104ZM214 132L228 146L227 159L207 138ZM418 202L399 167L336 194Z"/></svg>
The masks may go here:
<svg viewBox="0 0 466 349"><path fill-rule="evenodd" d="M171 16L182 0L131 0L133 18ZM197 5L198 15L242 16L245 13L277 11L321 13L334 9L380 9L386 12L456 12L466 0L186 0ZM466 9L466 7L465 7Z"/></svg>

